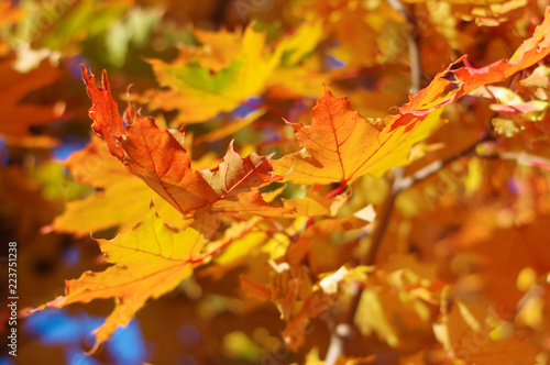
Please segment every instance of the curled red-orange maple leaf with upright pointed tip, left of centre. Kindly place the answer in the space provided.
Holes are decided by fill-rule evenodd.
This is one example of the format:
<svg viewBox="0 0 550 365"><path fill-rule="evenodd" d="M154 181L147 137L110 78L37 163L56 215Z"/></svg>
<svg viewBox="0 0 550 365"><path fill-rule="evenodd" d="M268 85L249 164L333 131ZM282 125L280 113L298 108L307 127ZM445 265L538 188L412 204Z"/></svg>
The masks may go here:
<svg viewBox="0 0 550 365"><path fill-rule="evenodd" d="M160 129L153 118L144 118L131 107L123 120L109 92L106 73L103 88L96 86L94 76L88 75L84 66L82 78L94 101L90 109L94 131L106 140L112 155L178 211L185 213L208 204L229 206L218 211L235 210L231 208L239 204L235 200L246 200L249 211L270 214L272 206L257 191L280 179L273 174L270 157L252 153L242 158L231 143L218 167L195 170L182 143L183 130ZM282 208L272 208L282 212Z"/></svg>

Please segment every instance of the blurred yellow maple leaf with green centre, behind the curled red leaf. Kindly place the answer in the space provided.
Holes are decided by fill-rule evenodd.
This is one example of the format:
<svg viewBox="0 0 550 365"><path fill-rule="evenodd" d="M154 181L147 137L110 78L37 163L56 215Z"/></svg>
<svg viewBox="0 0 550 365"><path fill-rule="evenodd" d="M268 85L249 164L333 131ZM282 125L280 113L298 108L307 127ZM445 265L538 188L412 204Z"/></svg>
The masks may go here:
<svg viewBox="0 0 550 365"><path fill-rule="evenodd" d="M298 63L320 40L320 24L305 23L276 46L265 46L265 34L248 26L242 34L195 32L205 45L182 48L179 57L167 64L148 59L156 79L168 90L136 98L151 108L177 109L175 123L200 123L220 112L229 112L248 98L262 95L273 81L275 70Z"/></svg>

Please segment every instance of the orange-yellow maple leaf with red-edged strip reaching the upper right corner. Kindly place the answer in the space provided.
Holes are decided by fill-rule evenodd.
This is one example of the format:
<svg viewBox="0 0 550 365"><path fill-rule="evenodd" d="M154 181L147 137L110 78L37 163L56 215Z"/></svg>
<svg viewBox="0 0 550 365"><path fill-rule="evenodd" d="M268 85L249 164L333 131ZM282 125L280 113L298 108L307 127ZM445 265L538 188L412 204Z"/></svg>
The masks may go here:
<svg viewBox="0 0 550 365"><path fill-rule="evenodd" d="M451 69L465 59L462 56L418 95L410 96L410 101L398 108L398 115L388 115L383 121L364 120L346 99L336 98L326 89L314 109L311 125L290 123L305 148L275 161L274 170L289 172L285 180L297 184L308 184L311 179L320 184L346 184L364 174L382 176L392 167L410 163L410 147L439 124L442 107L481 86L505 80L549 53L550 9L534 36L524 42L509 62L501 60L481 69L470 66ZM457 81L448 80L449 74Z"/></svg>

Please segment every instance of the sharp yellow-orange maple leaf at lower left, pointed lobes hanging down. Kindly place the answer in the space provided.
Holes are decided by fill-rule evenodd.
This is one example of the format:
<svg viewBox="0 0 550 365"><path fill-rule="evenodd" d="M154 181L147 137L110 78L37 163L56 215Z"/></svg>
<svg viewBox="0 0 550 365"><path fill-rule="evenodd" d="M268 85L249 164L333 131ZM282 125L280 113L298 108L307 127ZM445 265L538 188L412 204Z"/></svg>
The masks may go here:
<svg viewBox="0 0 550 365"><path fill-rule="evenodd" d="M94 299L117 298L113 311L95 331L90 352L107 341L120 325L127 325L148 298L156 299L191 276L206 244L191 228L178 231L166 225L154 207L132 231L113 240L97 240L107 262L101 273L86 272L79 279L66 281L65 297L58 297L35 310L65 307ZM197 259L197 261L196 261Z"/></svg>

